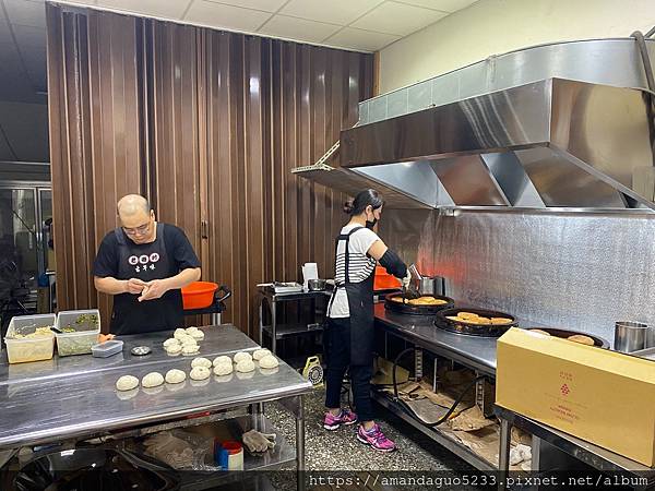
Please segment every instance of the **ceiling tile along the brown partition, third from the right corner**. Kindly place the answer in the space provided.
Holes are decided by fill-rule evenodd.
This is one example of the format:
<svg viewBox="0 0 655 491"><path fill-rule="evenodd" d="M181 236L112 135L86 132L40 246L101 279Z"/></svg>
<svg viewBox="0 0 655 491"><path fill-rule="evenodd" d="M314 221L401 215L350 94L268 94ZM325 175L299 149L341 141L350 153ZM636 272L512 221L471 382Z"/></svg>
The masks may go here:
<svg viewBox="0 0 655 491"><path fill-rule="evenodd" d="M195 0L187 12L184 21L211 27L252 32L270 17L271 14L267 12Z"/></svg>

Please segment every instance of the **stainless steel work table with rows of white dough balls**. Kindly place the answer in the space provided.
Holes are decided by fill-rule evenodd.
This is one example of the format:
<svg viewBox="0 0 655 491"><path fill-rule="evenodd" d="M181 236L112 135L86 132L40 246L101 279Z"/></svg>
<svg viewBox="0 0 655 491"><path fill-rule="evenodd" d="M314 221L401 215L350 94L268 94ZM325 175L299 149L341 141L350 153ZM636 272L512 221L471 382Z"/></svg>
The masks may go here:
<svg viewBox="0 0 655 491"><path fill-rule="evenodd" d="M171 333L122 336L122 355L106 359L91 355L55 358L46 362L0 364L0 450L120 432L130 428L182 420L202 412L249 407L261 415L262 403L279 400L296 418L296 463L305 468L305 415L302 396L311 384L281 361L277 369L257 368L205 381L187 379L145 390L118 392L119 376L165 374L178 368L187 373L191 360L202 356L234 355L258 345L233 326L203 327L205 338L193 356L169 356L162 342ZM132 346L146 345L152 354L135 357ZM263 418L263 416L262 416ZM202 421L202 418L199 418ZM193 426L193 419L187 419ZM198 423L195 423L198 424ZM301 486L301 479L298 479Z"/></svg>

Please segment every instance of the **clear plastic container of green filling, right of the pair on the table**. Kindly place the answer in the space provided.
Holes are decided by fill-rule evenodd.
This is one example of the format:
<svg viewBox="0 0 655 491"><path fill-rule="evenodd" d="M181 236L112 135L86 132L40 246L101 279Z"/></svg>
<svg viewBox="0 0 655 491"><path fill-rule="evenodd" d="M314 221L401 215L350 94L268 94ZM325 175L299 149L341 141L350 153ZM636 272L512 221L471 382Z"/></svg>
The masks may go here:
<svg viewBox="0 0 655 491"><path fill-rule="evenodd" d="M62 334L57 333L57 355L88 355L91 347L98 343L100 312L97 309L61 311L57 315L57 328L62 331ZM75 331L67 333L67 328Z"/></svg>

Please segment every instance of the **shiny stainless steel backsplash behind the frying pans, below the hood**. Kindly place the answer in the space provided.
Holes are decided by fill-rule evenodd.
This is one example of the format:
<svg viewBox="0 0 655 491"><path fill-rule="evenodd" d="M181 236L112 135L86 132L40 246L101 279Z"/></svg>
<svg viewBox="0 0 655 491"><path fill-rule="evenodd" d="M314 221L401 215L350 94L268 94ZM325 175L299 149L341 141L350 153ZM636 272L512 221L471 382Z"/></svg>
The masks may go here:
<svg viewBox="0 0 655 491"><path fill-rule="evenodd" d="M614 340L655 324L655 216L386 209L382 239L456 301Z"/></svg>

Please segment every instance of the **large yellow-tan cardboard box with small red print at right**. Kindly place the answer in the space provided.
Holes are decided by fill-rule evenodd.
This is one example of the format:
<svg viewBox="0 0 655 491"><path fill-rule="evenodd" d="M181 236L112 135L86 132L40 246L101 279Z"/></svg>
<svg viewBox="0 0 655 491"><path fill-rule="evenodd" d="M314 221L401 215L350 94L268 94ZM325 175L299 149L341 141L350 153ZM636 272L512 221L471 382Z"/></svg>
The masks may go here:
<svg viewBox="0 0 655 491"><path fill-rule="evenodd" d="M499 406L655 466L655 362L512 328L496 376Z"/></svg>

